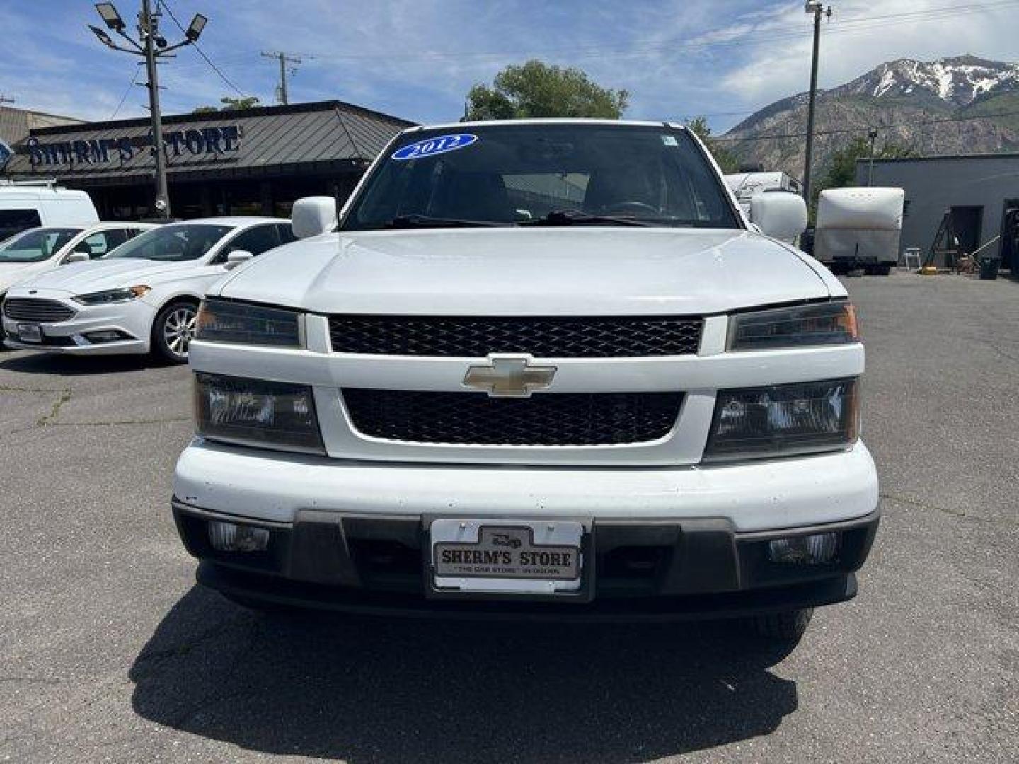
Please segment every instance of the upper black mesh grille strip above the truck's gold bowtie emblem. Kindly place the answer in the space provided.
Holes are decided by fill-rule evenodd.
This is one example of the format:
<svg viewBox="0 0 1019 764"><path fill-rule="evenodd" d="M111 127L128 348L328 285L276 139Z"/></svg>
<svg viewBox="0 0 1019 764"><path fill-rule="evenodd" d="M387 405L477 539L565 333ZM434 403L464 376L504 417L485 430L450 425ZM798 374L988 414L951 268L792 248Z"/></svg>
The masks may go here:
<svg viewBox="0 0 1019 764"><path fill-rule="evenodd" d="M329 318L333 352L484 358L686 356L697 352L703 320L676 316Z"/></svg>

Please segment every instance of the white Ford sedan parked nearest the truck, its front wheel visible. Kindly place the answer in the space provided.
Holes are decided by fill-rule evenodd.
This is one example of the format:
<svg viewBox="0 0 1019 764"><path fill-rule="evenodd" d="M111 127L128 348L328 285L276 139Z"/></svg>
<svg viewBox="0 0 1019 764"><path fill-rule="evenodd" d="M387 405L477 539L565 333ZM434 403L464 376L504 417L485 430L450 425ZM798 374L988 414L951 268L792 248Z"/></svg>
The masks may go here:
<svg viewBox="0 0 1019 764"><path fill-rule="evenodd" d="M136 236L109 256L18 283L3 303L8 347L187 361L199 302L230 269L294 239L278 218L206 218Z"/></svg>

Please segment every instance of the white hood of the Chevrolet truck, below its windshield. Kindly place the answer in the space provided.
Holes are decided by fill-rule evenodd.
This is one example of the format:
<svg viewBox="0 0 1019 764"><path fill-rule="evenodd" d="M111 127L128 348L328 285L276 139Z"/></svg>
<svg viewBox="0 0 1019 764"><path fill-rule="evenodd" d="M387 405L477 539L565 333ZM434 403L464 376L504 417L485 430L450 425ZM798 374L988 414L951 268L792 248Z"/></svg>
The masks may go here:
<svg viewBox="0 0 1019 764"><path fill-rule="evenodd" d="M319 313L703 315L830 286L751 231L570 226L325 234L257 259L219 293Z"/></svg>

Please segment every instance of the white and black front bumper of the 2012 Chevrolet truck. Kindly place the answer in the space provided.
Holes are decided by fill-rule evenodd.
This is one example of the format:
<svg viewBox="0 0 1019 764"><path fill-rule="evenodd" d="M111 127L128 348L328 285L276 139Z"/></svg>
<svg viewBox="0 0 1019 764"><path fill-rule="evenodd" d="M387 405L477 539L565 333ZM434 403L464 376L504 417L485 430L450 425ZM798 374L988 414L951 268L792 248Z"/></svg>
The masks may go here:
<svg viewBox="0 0 1019 764"><path fill-rule="evenodd" d="M397 612L571 618L725 617L850 599L878 523L873 462L836 454L712 468L377 465L196 441L173 510L199 581L237 599ZM432 517L583 517L587 601L436 599ZM268 529L265 552L220 552L208 523ZM768 542L839 534L823 564ZM470 601L463 601L469 599Z"/></svg>

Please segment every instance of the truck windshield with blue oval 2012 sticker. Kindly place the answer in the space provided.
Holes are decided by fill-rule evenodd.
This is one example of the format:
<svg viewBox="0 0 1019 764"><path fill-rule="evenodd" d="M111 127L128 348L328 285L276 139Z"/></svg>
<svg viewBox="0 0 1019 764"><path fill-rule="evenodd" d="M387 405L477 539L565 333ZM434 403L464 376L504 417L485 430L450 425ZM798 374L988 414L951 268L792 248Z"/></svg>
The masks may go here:
<svg viewBox="0 0 1019 764"><path fill-rule="evenodd" d="M739 227L686 130L511 123L404 135L342 228L573 224Z"/></svg>

